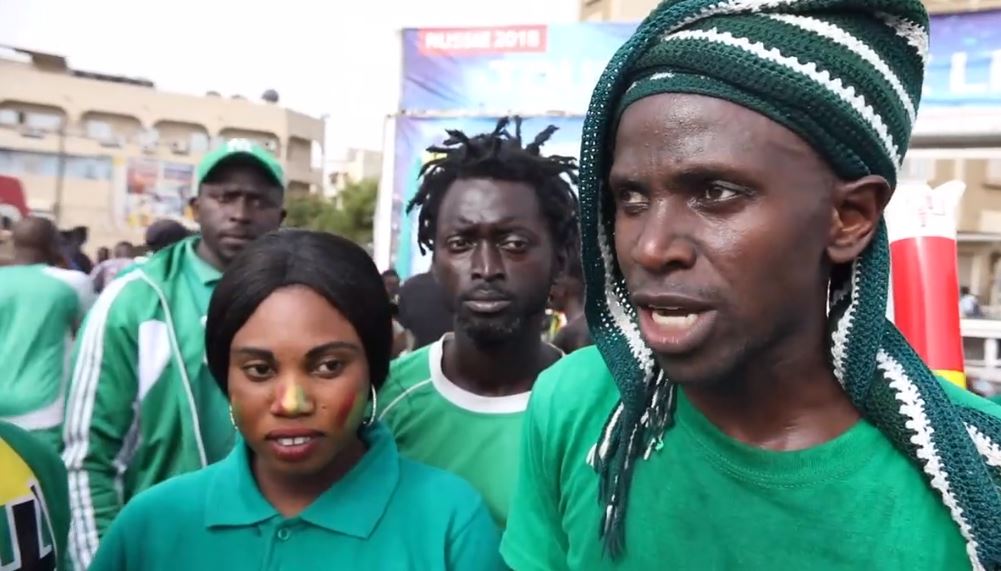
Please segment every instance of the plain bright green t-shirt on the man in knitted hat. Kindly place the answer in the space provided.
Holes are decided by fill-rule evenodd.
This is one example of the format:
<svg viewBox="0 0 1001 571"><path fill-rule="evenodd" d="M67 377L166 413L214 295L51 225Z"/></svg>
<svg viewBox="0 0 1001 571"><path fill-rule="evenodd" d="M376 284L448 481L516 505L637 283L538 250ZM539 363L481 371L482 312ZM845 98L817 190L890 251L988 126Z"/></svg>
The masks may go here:
<svg viewBox="0 0 1001 571"><path fill-rule="evenodd" d="M1001 417L1001 408L946 387ZM500 547L516 571L970 568L947 508L868 422L808 450L766 451L723 434L683 392L663 447L636 465L626 551L612 562L587 457L617 403L595 348L540 377Z"/></svg>

